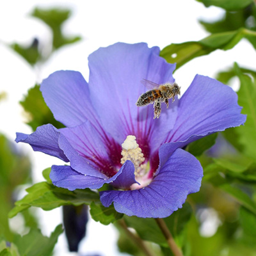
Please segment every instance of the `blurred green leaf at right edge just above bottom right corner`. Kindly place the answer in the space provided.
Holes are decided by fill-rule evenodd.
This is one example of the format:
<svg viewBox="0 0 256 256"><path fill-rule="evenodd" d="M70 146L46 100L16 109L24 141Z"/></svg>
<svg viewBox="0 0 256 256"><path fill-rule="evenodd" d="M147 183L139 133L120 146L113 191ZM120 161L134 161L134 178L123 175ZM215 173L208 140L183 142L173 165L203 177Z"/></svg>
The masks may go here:
<svg viewBox="0 0 256 256"><path fill-rule="evenodd" d="M256 216L252 214L248 209L241 207L240 208L240 222L243 230L246 234L256 237Z"/></svg>

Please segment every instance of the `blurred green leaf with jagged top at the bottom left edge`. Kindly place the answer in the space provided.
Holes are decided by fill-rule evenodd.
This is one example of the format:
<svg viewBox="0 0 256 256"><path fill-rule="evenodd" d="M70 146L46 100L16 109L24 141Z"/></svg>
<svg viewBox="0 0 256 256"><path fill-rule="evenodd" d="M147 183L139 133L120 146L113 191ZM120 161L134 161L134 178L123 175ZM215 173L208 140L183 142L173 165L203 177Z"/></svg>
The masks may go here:
<svg viewBox="0 0 256 256"><path fill-rule="evenodd" d="M55 228L50 237L43 236L40 230L31 229L25 236L15 236L13 243L19 249L20 256L47 256L51 255L62 232L61 225Z"/></svg>

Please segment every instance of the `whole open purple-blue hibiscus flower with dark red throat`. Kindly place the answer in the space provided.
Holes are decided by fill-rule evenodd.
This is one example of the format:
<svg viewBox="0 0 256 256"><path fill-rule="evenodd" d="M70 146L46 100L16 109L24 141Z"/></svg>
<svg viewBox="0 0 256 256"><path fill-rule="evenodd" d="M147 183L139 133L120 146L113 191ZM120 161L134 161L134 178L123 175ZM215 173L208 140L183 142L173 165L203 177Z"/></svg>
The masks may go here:
<svg viewBox="0 0 256 256"><path fill-rule="evenodd" d="M136 106L146 92L141 79L173 83L175 65L159 57L159 48L118 43L89 56L90 79L79 72L54 72L41 84L56 120L16 141L70 162L52 166L55 186L98 189L106 207L142 218L164 218L200 189L198 160L181 148L212 132L245 122L236 93L220 82L196 75L180 100L162 104L159 119L151 105Z"/></svg>

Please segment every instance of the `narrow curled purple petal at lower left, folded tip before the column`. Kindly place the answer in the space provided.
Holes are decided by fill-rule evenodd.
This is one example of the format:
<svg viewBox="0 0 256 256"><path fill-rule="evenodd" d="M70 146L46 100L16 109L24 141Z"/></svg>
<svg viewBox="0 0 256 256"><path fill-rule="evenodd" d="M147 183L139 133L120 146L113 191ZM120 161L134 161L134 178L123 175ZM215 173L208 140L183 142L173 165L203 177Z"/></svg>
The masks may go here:
<svg viewBox="0 0 256 256"><path fill-rule="evenodd" d="M70 166L53 165L50 173L52 183L60 188L74 189L99 189L105 183L118 188L129 188L136 180L134 179L134 165L131 161L126 161L120 171L110 179L106 176L95 177L90 175L83 175L76 172Z"/></svg>

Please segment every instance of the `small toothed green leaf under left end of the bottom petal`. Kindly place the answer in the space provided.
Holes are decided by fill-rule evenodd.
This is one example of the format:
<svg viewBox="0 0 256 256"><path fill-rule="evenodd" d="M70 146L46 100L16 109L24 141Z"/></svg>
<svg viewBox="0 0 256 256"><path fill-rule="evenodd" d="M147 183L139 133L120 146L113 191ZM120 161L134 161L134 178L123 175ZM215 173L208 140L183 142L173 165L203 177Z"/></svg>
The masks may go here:
<svg viewBox="0 0 256 256"><path fill-rule="evenodd" d="M103 225L109 225L124 216L124 214L116 212L113 205L104 207L102 204L94 202L90 205L90 214L93 220L99 221Z"/></svg>

